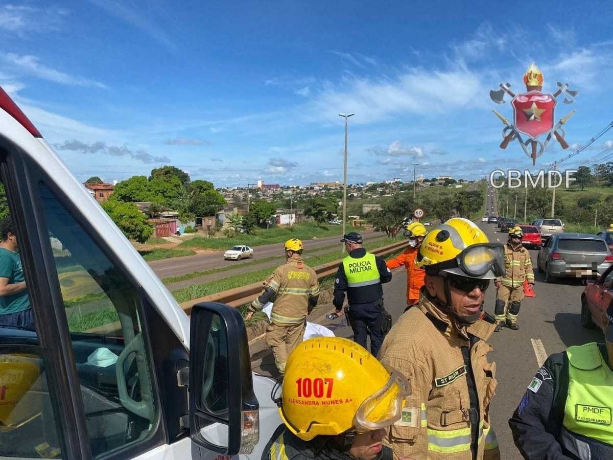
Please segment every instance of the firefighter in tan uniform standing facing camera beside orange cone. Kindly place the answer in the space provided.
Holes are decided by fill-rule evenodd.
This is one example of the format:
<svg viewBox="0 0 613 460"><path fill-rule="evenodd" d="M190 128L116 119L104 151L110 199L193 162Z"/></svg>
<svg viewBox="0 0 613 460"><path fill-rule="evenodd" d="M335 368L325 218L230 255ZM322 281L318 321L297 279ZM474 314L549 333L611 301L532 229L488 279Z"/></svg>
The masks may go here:
<svg viewBox="0 0 613 460"><path fill-rule="evenodd" d="M532 271L530 253L522 246L524 232L520 226L509 229L508 242L504 245L504 270L502 277L496 278L496 315L495 331L509 328L517 331L517 315L522 299L524 299L524 282L535 284L535 274Z"/></svg>

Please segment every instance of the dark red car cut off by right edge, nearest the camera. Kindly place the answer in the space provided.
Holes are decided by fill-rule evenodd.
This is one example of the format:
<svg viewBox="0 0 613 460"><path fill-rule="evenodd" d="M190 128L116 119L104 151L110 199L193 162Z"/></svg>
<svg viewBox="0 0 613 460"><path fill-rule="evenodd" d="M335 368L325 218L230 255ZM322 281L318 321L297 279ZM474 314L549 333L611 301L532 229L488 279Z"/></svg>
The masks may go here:
<svg viewBox="0 0 613 460"><path fill-rule="evenodd" d="M581 294L581 326L595 328L604 332L609 324L607 309L613 302L613 266L609 267L597 280L588 280Z"/></svg>

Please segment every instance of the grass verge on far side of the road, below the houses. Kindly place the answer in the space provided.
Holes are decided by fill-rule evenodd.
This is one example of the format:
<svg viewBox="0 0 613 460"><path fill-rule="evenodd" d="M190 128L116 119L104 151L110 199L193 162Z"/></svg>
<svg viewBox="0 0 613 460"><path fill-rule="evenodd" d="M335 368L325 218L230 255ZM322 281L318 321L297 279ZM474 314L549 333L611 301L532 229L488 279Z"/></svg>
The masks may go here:
<svg viewBox="0 0 613 460"><path fill-rule="evenodd" d="M361 228L348 226L347 231L360 231ZM249 246L261 246L272 243L283 243L291 238L308 240L313 237L325 238L328 236L340 235L342 226L330 225L318 227L314 223L301 223L292 227L276 227L271 229L256 229L254 234L238 234L233 238L202 238L194 237L184 241L178 248L199 248L226 250L236 244L246 244Z"/></svg>

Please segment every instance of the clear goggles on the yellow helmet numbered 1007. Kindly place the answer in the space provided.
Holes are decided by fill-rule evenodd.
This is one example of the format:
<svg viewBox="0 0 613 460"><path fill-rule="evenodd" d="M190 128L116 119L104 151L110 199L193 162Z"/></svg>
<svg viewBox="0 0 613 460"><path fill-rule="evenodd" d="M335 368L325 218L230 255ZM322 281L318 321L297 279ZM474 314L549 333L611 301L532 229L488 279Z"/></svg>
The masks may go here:
<svg viewBox="0 0 613 460"><path fill-rule="evenodd" d="M386 385L360 404L353 419L356 431L373 431L400 420L403 402L410 393L409 388L405 376L393 370Z"/></svg>

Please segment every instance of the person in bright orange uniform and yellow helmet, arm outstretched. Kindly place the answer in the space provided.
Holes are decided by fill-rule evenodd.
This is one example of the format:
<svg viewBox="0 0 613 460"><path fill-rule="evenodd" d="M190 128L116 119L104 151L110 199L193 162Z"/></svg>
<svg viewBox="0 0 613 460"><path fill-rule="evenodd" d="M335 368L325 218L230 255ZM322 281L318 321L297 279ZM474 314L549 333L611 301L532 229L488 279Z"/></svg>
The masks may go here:
<svg viewBox="0 0 613 460"><path fill-rule="evenodd" d="M405 266L406 306L410 307L419 301L419 289L424 286L425 271L416 266L416 257L428 231L421 222L413 222L406 226L403 234L409 237L409 247L398 257L386 261L386 265L389 269Z"/></svg>

